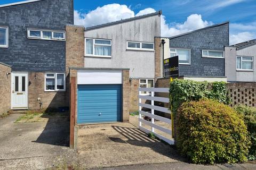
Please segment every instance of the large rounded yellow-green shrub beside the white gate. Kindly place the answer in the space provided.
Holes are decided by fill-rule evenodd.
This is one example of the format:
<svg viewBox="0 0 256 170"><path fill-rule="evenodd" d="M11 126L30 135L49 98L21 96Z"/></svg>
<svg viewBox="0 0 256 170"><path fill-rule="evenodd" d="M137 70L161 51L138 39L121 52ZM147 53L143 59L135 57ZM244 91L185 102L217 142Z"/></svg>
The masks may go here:
<svg viewBox="0 0 256 170"><path fill-rule="evenodd" d="M175 142L193 163L236 163L247 160L250 140L243 117L211 99L183 103L175 121Z"/></svg>

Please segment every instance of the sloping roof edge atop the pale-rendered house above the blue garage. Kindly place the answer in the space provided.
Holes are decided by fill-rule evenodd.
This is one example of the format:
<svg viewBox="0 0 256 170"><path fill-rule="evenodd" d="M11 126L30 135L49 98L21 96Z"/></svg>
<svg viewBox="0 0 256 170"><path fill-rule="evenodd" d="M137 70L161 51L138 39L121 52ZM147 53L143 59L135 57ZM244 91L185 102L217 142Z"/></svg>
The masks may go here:
<svg viewBox="0 0 256 170"><path fill-rule="evenodd" d="M123 23L123 22L138 20L138 19L142 19L142 18L147 18L149 16L154 16L154 15L162 15L162 10L154 12L154 13L146 14L146 15L135 16L135 17L129 18L129 19L124 19L124 20L104 23L104 24L100 24L100 25L95 25L95 26L92 26L92 27L87 27L87 28L85 28L85 31L92 30L92 29L97 29L97 28L101 28L101 27L107 27L107 26L110 26L110 25L115 25L115 24L119 24L119 23Z"/></svg>

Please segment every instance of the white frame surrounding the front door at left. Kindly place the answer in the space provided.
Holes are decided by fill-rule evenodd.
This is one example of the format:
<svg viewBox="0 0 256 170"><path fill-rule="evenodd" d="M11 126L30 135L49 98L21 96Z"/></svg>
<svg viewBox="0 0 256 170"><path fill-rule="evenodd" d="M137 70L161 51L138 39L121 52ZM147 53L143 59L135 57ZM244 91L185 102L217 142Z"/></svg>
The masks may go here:
<svg viewBox="0 0 256 170"><path fill-rule="evenodd" d="M15 74L26 74L26 78L27 78L27 81L25 81L26 83L26 96L27 96L27 107L25 108L13 108L13 104L12 104L12 101L13 101L13 75ZM15 110L15 109L28 109L28 72L11 72L11 109L12 110Z"/></svg>

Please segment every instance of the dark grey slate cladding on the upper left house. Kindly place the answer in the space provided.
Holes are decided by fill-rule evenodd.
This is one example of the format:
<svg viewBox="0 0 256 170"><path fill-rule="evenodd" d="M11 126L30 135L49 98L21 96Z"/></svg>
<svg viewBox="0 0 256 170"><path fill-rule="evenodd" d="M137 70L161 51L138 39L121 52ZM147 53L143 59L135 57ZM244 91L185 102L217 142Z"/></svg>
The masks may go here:
<svg viewBox="0 0 256 170"><path fill-rule="evenodd" d="M0 48L0 62L13 71L65 72L66 41L27 39L27 29L65 31L74 24L73 0L43 0L0 7L0 25L9 27L9 48Z"/></svg>

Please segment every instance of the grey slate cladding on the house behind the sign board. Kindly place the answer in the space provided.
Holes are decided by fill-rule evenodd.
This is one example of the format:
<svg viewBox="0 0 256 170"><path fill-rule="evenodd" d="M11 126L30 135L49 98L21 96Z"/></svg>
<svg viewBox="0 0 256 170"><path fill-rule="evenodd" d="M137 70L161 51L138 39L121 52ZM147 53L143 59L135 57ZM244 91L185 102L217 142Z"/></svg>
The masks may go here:
<svg viewBox="0 0 256 170"><path fill-rule="evenodd" d="M225 59L203 58L202 49L222 50L229 45L229 23L218 24L170 38L170 48L191 49L191 65L180 65L180 76L222 77L225 76Z"/></svg>

